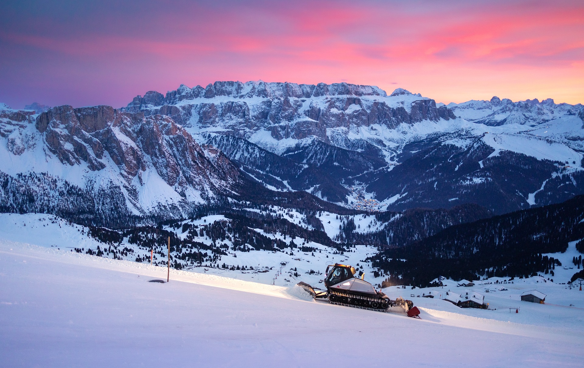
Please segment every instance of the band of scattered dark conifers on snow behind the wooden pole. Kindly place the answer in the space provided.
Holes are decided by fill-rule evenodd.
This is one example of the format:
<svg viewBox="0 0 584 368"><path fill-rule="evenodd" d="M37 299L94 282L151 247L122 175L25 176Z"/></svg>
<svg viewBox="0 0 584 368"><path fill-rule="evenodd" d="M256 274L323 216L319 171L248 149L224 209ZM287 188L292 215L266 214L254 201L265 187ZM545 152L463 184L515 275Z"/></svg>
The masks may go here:
<svg viewBox="0 0 584 368"><path fill-rule="evenodd" d="M129 255L132 259L135 257L136 262L147 262L149 257L143 255L144 251L152 250L154 264L166 264L168 256L166 244L169 241L171 266L184 269L203 264L217 268L235 267L221 264L221 256L234 251L266 250L285 252L289 255L301 251L317 251L316 248L305 245L304 241L315 241L335 248L333 254L342 254L351 247L350 244L339 244L329 239L322 230L322 224L318 219L315 221L310 211L306 211L307 218L304 220L304 226L301 226L300 223L290 222L283 217L281 211L276 211L270 206L260 208L261 212L231 209L224 213L225 218L204 225L186 220L166 221L164 225L161 223L158 226L137 226L117 231L90 227L89 236L106 245L98 250L75 248L75 251L114 259L123 259ZM181 236L172 230L179 230ZM283 239L270 237L270 234L280 234ZM126 237L127 244L121 244ZM211 243L201 242L203 238L211 240Z"/></svg>

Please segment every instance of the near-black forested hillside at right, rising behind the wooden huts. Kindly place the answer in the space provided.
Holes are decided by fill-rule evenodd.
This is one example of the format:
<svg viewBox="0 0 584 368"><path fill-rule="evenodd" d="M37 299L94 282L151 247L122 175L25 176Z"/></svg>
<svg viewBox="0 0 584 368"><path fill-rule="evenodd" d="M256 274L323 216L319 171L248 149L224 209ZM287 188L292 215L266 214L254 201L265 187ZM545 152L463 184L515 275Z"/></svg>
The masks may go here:
<svg viewBox="0 0 584 368"><path fill-rule="evenodd" d="M584 237L584 196L455 225L402 248L373 257L392 283L427 285L437 276L528 276L557 262L544 253L565 251Z"/></svg>

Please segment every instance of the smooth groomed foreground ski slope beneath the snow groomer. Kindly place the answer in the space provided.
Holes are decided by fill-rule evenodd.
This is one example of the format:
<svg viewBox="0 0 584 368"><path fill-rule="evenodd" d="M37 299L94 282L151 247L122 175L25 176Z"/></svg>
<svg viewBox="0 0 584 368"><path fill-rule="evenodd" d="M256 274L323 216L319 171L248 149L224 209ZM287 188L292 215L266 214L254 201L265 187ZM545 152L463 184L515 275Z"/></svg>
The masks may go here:
<svg viewBox="0 0 584 368"><path fill-rule="evenodd" d="M414 297L423 318L416 320L193 272L148 282L166 280L166 268L6 240L0 270L4 366L288 367L323 356L350 366L450 367L465 356L488 366L580 366L584 359L582 310L520 302L519 290L486 294L505 305L496 311ZM576 293L569 295L582 303Z"/></svg>

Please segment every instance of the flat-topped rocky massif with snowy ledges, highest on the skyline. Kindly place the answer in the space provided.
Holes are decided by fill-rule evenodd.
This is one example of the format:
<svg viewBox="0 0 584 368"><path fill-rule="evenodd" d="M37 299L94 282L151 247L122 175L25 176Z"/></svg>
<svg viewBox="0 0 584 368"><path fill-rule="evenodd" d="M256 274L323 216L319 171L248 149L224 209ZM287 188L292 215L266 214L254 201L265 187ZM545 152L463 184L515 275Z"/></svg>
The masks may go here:
<svg viewBox="0 0 584 368"><path fill-rule="evenodd" d="M434 100L398 89L390 96L375 86L334 83L215 82L206 88L181 85L166 93L137 96L126 111L164 114L185 127L249 138L266 130L277 141L315 136L327 141L327 129L399 124L455 118Z"/></svg>

